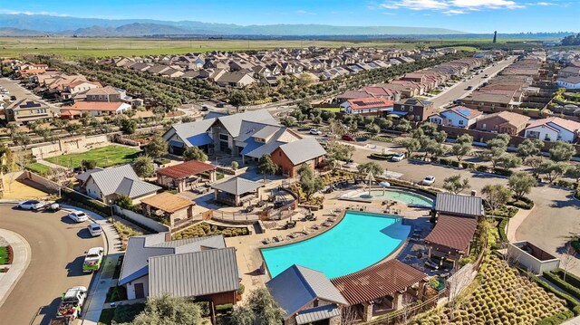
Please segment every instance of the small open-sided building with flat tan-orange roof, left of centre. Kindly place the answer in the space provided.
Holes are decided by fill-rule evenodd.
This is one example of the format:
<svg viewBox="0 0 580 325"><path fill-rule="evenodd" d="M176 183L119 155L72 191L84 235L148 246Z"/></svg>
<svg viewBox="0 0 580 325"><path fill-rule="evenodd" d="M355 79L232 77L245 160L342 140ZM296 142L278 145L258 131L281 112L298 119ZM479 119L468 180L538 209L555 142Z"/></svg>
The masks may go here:
<svg viewBox="0 0 580 325"><path fill-rule="evenodd" d="M165 219L171 228L191 221L196 204L185 197L163 192L141 200L143 215Z"/></svg>

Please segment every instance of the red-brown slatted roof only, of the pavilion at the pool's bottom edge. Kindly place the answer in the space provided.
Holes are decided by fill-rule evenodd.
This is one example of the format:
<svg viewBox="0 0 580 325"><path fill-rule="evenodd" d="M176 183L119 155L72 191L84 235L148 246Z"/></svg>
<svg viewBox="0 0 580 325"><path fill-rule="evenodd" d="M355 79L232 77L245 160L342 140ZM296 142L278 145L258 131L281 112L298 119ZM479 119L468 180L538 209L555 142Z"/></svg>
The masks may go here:
<svg viewBox="0 0 580 325"><path fill-rule="evenodd" d="M373 301L428 278L410 265L390 260L331 280L351 305Z"/></svg>

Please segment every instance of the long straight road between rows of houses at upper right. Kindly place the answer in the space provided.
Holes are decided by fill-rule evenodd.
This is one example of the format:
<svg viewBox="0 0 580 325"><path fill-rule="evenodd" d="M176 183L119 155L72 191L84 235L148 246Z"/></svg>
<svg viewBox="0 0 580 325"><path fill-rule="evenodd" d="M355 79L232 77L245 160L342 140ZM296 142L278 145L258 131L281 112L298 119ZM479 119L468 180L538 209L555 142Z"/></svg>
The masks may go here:
<svg viewBox="0 0 580 325"><path fill-rule="evenodd" d="M468 79L467 81L460 81L457 84L453 85L447 91L440 93L438 96L430 99L433 102L433 105L436 109L445 107L449 105L453 100L461 99L472 91L475 91L481 83L487 81L489 78L495 76L498 72L504 70L509 64L516 60L515 56L509 57L502 62L498 62L495 66L491 65L488 68L484 69L483 73L479 73L478 75L474 75L473 79ZM484 76L488 74L488 78L484 78ZM471 91L467 91L467 88L471 86L473 89Z"/></svg>

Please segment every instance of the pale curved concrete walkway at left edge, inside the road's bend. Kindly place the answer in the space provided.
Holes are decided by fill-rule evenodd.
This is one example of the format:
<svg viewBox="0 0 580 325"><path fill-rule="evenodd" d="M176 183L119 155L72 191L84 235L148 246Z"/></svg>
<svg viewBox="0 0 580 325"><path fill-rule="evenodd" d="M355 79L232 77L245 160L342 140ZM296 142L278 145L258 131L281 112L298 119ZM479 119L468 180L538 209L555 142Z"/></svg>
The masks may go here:
<svg viewBox="0 0 580 325"><path fill-rule="evenodd" d="M30 244L20 234L16 234L10 230L0 229L0 237L3 237L12 246L14 252L12 264L9 265L10 270L5 273L0 273L0 306L2 306L10 292L14 289L16 282L20 280L24 271L26 271L30 263L32 250Z"/></svg>

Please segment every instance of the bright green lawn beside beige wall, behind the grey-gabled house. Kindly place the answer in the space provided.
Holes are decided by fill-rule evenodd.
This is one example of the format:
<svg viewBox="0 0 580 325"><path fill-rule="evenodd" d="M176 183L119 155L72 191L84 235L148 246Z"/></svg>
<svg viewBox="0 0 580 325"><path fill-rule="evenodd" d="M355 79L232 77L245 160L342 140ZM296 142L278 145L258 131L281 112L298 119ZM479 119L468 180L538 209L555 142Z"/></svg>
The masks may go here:
<svg viewBox="0 0 580 325"><path fill-rule="evenodd" d="M111 145L102 148L95 148L80 154L69 154L46 158L53 164L64 167L80 167L81 161L94 160L98 167L111 167L127 164L139 156L140 151L134 148Z"/></svg>

